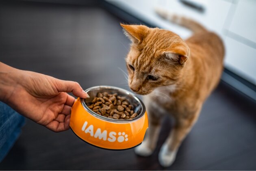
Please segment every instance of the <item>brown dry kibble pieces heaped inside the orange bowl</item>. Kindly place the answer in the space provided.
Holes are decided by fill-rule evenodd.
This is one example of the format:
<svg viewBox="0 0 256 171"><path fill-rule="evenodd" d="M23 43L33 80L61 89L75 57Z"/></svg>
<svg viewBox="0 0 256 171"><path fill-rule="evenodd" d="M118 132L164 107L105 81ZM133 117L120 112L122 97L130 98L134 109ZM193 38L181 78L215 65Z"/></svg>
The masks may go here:
<svg viewBox="0 0 256 171"><path fill-rule="evenodd" d="M87 106L98 115L111 119L125 120L138 116L137 113L134 113L133 106L128 100L117 95L117 93L98 93L97 97L94 97L90 105Z"/></svg>

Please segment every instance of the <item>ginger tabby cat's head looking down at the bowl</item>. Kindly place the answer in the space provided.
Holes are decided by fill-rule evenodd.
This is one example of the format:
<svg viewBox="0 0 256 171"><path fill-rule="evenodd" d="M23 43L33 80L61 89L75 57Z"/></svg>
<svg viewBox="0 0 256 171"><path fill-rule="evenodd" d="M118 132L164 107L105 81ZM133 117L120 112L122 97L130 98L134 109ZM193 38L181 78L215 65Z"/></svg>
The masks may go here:
<svg viewBox="0 0 256 171"><path fill-rule="evenodd" d="M146 95L155 88L175 84L189 57L189 47L174 32L143 25L124 25L132 41L126 57L130 89Z"/></svg>

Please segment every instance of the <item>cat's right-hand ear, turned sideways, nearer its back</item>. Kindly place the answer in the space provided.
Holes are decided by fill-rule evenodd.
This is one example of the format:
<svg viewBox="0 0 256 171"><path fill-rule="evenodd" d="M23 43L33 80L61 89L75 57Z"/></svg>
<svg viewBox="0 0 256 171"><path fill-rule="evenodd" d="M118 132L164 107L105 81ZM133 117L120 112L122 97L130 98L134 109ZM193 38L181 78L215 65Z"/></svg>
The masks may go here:
<svg viewBox="0 0 256 171"><path fill-rule="evenodd" d="M189 57L189 47L184 42L176 42L171 48L163 52L168 59L184 64Z"/></svg>

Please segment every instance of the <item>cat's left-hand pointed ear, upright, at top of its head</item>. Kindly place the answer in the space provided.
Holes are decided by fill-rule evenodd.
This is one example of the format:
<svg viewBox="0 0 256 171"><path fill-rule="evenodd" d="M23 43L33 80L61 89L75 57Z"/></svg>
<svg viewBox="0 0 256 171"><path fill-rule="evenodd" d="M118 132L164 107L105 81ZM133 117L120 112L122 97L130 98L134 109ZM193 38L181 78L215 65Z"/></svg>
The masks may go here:
<svg viewBox="0 0 256 171"><path fill-rule="evenodd" d="M126 25L121 24L120 25L124 28L124 34L133 42L133 43L139 43L142 41L150 31L150 28L143 25Z"/></svg>

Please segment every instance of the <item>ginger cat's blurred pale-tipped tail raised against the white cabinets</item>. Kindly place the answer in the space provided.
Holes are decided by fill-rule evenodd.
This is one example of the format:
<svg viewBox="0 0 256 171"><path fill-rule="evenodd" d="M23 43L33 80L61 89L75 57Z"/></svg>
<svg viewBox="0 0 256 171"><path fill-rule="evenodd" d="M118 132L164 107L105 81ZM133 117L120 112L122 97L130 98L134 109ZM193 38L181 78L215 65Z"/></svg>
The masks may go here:
<svg viewBox="0 0 256 171"><path fill-rule="evenodd" d="M168 21L178 24L180 26L184 26L184 27L188 28L189 30L192 30L193 32L207 31L206 28L204 28L204 26L197 23L193 19L189 19L187 17L176 15L176 14L171 13L163 8L160 8L160 7L156 7L155 11L158 15L160 15L164 19L167 19Z"/></svg>

